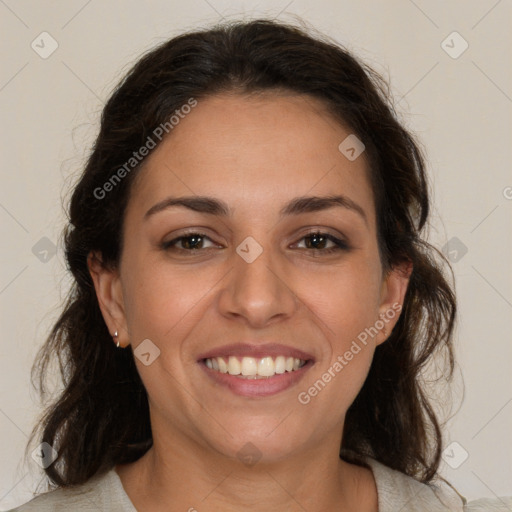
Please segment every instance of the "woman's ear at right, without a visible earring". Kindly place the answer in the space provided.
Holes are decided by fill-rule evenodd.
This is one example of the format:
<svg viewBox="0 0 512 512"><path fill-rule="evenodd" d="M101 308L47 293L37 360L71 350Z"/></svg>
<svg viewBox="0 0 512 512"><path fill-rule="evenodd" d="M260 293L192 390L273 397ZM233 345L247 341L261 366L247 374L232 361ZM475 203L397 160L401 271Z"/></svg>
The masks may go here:
<svg viewBox="0 0 512 512"><path fill-rule="evenodd" d="M384 276L379 305L379 320L376 326L379 333L375 344L380 345L391 334L403 308L405 294L412 273L412 262L406 261L392 267Z"/></svg>

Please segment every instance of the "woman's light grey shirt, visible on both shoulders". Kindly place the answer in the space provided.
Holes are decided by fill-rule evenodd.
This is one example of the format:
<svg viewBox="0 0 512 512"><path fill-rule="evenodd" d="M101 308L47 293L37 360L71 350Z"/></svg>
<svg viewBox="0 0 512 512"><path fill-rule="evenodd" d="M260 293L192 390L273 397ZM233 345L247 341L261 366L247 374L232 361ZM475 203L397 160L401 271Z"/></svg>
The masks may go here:
<svg viewBox="0 0 512 512"><path fill-rule="evenodd" d="M423 484L366 459L377 484L379 512L512 512L512 497L467 503L453 487ZM74 489L56 489L10 512L137 512L114 469Z"/></svg>

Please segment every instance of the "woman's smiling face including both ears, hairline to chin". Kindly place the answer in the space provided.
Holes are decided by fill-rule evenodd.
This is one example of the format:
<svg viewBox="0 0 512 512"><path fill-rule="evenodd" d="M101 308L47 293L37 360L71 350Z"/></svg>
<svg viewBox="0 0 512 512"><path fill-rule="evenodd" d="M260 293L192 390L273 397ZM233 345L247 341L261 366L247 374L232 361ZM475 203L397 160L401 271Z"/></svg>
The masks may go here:
<svg viewBox="0 0 512 512"><path fill-rule="evenodd" d="M407 285L383 274L349 135L310 97L224 94L147 157L119 269L93 276L135 350L155 445L271 461L339 443Z"/></svg>

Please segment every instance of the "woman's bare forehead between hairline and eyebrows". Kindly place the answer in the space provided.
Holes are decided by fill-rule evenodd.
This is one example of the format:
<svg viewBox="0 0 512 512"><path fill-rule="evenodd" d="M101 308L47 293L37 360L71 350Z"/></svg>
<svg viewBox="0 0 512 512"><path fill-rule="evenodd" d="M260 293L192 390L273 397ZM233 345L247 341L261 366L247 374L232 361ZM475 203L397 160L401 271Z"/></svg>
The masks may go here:
<svg viewBox="0 0 512 512"><path fill-rule="evenodd" d="M133 208L168 195L218 197L240 213L279 210L290 197L340 193L374 217L364 153L338 149L351 134L304 95L222 94L198 100L147 157Z"/></svg>

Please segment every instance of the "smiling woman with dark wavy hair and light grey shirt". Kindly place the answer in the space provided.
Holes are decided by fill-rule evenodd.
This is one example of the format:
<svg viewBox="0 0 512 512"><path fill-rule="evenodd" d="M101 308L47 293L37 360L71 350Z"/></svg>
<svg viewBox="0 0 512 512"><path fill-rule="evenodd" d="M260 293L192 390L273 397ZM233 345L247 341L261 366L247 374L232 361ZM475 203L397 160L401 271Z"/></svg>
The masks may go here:
<svg viewBox="0 0 512 512"><path fill-rule="evenodd" d="M455 298L384 91L265 20L136 64L71 200L75 285L39 360L65 383L40 437L57 489L17 510L489 510L436 479L420 372L451 374Z"/></svg>

